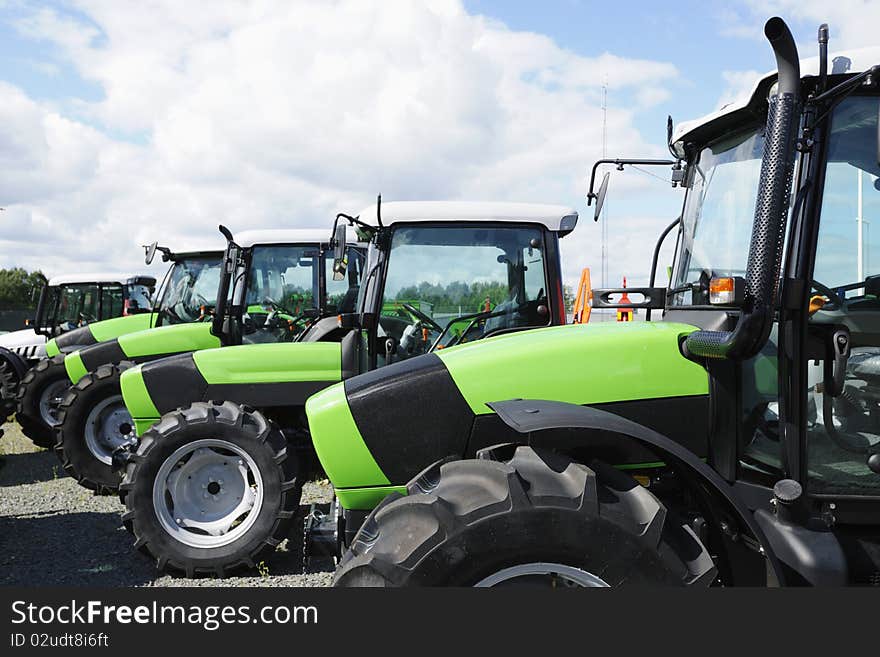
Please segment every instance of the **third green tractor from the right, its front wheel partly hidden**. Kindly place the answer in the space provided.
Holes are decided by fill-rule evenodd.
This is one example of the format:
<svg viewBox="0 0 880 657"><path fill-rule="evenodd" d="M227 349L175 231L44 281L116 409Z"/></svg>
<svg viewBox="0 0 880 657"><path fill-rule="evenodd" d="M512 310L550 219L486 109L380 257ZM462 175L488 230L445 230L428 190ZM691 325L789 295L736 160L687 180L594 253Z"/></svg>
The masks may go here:
<svg viewBox="0 0 880 657"><path fill-rule="evenodd" d="M193 284L172 273L169 285L192 290L169 311L172 321L64 358L65 383L71 387L58 407L55 451L81 486L102 493L119 486L113 452L134 433L119 389L125 370L220 346L332 340L338 332L336 314L354 308L361 245L347 249L348 276L337 281L326 230L253 230L235 239L221 230L228 247L222 263L211 261L208 281Z"/></svg>

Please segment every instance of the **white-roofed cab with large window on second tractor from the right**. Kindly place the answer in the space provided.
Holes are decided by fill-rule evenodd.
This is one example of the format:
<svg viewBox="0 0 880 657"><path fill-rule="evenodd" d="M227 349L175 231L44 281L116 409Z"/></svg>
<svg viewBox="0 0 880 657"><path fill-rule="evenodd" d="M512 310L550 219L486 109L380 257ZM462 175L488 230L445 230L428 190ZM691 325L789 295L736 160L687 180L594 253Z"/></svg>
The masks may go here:
<svg viewBox="0 0 880 657"><path fill-rule="evenodd" d="M358 311L340 318L359 332L359 371L565 323L559 239L574 230L575 210L380 201L359 216L376 224L348 218L369 254Z"/></svg>

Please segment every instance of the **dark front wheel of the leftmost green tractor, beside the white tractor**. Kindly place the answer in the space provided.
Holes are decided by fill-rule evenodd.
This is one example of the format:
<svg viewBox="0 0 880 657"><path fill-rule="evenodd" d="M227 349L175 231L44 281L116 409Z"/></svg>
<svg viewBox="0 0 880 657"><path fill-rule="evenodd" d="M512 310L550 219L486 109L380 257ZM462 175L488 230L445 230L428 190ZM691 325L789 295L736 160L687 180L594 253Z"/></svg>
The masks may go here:
<svg viewBox="0 0 880 657"><path fill-rule="evenodd" d="M16 395L16 419L21 430L40 447L55 445L58 404L70 387L64 356L44 358L21 379Z"/></svg>

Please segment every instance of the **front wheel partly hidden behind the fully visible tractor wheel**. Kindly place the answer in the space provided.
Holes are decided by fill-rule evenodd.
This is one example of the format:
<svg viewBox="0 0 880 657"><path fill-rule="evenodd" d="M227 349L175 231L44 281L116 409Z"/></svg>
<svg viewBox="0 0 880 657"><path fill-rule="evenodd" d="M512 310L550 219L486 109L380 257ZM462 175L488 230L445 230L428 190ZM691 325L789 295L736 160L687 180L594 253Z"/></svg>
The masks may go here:
<svg viewBox="0 0 880 657"><path fill-rule="evenodd" d="M64 471L80 486L113 493L122 475L113 468L113 452L134 435L119 377L134 363L101 365L68 389L58 407L55 452Z"/></svg>

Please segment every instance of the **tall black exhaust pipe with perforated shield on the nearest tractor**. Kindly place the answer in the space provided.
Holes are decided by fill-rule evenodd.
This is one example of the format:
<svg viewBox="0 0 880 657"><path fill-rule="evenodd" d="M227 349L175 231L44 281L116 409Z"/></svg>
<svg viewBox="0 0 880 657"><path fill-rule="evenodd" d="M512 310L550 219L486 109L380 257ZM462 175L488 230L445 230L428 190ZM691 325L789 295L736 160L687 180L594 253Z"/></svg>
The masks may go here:
<svg viewBox="0 0 880 657"><path fill-rule="evenodd" d="M797 47L785 21L771 18L764 26L764 35L776 55L779 79L767 110L743 310L732 331L691 333L682 345L689 358L751 358L764 346L773 326L794 174L801 74Z"/></svg>

